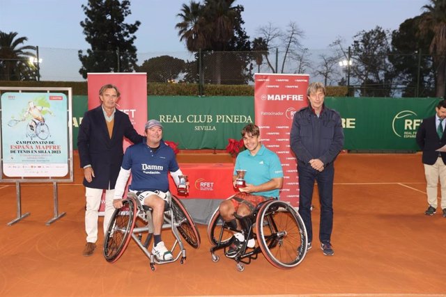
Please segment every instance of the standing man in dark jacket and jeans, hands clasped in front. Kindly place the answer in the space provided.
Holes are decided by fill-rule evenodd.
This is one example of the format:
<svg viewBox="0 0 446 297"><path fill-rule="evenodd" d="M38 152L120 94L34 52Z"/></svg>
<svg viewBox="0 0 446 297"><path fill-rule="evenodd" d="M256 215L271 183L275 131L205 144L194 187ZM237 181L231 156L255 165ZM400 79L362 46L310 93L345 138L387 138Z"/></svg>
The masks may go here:
<svg viewBox="0 0 446 297"><path fill-rule="evenodd" d="M334 159L344 146L341 116L324 104L325 86L310 83L307 89L309 105L294 114L291 127L291 150L298 159L299 214L312 248L312 198L314 181L318 184L321 202L319 241L324 255L334 255L331 236L333 229Z"/></svg>

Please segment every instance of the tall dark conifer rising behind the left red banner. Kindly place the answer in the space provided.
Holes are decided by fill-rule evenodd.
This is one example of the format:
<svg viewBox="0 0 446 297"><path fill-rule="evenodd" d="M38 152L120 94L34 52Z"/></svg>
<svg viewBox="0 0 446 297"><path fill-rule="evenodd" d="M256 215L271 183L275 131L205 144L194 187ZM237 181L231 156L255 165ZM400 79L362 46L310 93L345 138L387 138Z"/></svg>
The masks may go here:
<svg viewBox="0 0 446 297"><path fill-rule="evenodd" d="M129 0L89 0L82 5L86 18L80 24L91 49L78 52L84 79L88 72L132 72L137 62L133 35L141 22L126 24Z"/></svg>

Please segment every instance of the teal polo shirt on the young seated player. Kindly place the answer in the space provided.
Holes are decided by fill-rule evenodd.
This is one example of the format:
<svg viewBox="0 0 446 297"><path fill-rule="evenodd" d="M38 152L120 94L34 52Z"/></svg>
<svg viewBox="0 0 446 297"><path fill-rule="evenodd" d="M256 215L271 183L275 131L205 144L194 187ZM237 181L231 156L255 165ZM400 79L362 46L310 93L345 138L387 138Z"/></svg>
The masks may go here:
<svg viewBox="0 0 446 297"><path fill-rule="evenodd" d="M264 184L276 177L284 177L282 164L279 156L268 150L265 145L261 145L259 152L255 156L249 153L249 150L244 150L238 154L236 159L236 166L234 167L233 175L237 175L236 170L246 170L245 181L247 184ZM279 189L252 193L252 195L261 195L266 197L279 197Z"/></svg>

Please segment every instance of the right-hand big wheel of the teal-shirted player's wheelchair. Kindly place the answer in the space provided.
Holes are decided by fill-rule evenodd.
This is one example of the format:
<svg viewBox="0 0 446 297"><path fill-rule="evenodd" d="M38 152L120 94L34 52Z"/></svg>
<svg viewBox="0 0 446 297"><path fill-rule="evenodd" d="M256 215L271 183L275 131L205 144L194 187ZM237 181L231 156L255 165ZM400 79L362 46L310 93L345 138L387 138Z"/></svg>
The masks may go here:
<svg viewBox="0 0 446 297"><path fill-rule="evenodd" d="M277 268L293 268L307 253L307 230L289 203L270 200L256 218L258 241L263 255Z"/></svg>

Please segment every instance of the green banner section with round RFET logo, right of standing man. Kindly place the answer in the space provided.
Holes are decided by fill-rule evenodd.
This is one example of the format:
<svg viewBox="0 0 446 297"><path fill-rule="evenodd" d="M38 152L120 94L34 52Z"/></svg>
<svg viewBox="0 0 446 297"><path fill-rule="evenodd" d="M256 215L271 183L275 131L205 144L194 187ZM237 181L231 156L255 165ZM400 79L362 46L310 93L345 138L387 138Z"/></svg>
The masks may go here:
<svg viewBox="0 0 446 297"><path fill-rule="evenodd" d="M435 115L438 98L325 97L338 111L346 150L417 151L415 136L424 118Z"/></svg>

